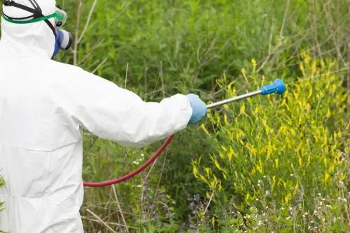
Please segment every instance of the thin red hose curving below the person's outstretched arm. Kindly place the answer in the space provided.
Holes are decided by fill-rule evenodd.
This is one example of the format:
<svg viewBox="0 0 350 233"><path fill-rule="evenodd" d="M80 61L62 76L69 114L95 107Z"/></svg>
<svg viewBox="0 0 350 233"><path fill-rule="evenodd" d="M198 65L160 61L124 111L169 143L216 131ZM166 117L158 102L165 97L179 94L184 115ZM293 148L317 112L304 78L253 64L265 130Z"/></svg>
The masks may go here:
<svg viewBox="0 0 350 233"><path fill-rule="evenodd" d="M139 174L140 172L142 172L143 170L146 169L146 167L148 167L149 165L151 165L151 163L153 163L153 161L158 158L158 156L160 156L160 153L162 153L167 146L170 144L170 142L172 142L174 135L171 135L170 137L168 137L168 139L164 142L164 144L162 144L162 146L160 147L160 149L158 149L158 151L156 151L153 156L151 158L149 158L146 163L144 163L143 165L141 165L141 167L139 167L137 170L134 170L134 172L131 172L130 174L126 174L125 176L122 176L118 179L113 179L111 181L103 181L103 182L83 182L84 186L87 187L104 187L104 186L111 186L112 184L115 183L120 183L122 181L126 181L127 179L132 178L132 176L135 176L137 174Z"/></svg>

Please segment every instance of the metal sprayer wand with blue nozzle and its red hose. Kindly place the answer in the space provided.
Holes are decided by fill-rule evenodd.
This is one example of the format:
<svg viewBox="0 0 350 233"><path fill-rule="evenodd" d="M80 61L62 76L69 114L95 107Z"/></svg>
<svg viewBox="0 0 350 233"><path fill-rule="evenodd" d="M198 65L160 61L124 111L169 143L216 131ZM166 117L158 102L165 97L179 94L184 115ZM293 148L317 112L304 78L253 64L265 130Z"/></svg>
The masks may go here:
<svg viewBox="0 0 350 233"><path fill-rule="evenodd" d="M258 91L252 91L250 93L246 93L243 94L241 96L236 96L233 98L228 98L227 100L222 100L216 103L211 103L210 105L207 105L208 108L212 108L212 107L218 107L221 105L225 105L228 103L232 103L236 100L241 100L244 98L248 98L251 96L256 96L256 95L268 95L270 93L279 93L280 95L284 93L284 91L286 91L286 85L283 83L282 80L280 79L276 79L274 80L274 82L272 84L267 84L263 87L260 88L260 90ZM167 146L170 144L170 142L172 142L174 135L171 135L165 142L164 144L160 147L160 149L158 149L158 151L155 152L155 154L149 158L146 163L144 163L144 165L141 165L141 167L139 167L137 170L134 170L133 172L131 172L130 174L127 174L125 176L122 176L118 179L113 179L111 181L104 181L104 182L97 182L97 183L92 183L92 182L84 182L84 186L88 186L88 187L104 187L104 186L111 186L115 183L120 183L122 181L125 181L127 179L132 178L132 176L135 176L136 174L139 174L139 172L142 172L143 170L146 169L146 167L148 167L148 165L151 165L151 163L153 163L153 161L158 158L158 156L160 156L160 153L162 153L162 151L164 151Z"/></svg>

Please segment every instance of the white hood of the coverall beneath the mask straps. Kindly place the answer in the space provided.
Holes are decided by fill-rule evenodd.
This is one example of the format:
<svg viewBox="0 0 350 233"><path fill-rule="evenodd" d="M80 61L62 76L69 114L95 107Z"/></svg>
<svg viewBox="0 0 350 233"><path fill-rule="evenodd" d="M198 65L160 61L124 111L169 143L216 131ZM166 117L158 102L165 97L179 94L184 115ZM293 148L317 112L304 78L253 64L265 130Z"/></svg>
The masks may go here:
<svg viewBox="0 0 350 233"><path fill-rule="evenodd" d="M33 0L31 0L33 1ZM43 15L55 13L55 0L34 0L40 6ZM16 3L34 8L29 0L15 0ZM28 17L32 15L13 6L4 6L3 13L10 17ZM53 18L49 19L55 25ZM47 57L51 58L55 49L55 35L44 21L29 24L14 24L1 17L1 57Z"/></svg>

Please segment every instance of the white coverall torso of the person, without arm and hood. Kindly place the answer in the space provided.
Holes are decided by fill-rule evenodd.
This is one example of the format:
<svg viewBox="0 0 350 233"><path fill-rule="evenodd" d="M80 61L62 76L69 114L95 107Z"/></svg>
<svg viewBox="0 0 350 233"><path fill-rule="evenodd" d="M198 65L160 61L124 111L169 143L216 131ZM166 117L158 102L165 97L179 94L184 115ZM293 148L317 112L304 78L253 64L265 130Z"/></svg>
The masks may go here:
<svg viewBox="0 0 350 233"><path fill-rule="evenodd" d="M34 57L15 64L0 63L0 230L82 232L81 140L55 91L56 66Z"/></svg>

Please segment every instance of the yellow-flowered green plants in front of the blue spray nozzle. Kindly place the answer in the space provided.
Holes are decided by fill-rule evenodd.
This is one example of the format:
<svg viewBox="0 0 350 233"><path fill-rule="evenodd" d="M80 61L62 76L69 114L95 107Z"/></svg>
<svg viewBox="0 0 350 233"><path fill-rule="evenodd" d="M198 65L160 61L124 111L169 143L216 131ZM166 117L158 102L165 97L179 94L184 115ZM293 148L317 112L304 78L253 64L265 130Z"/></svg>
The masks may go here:
<svg viewBox="0 0 350 233"><path fill-rule="evenodd" d="M304 213L313 213L320 203L315 203L318 195L327 196L327 202L337 201L335 197L339 196L346 200L349 156L344 156L344 147L350 125L344 121L346 90L339 89L342 79L334 75L338 69L336 61L311 59L308 53L302 53L302 77L299 82L287 85L284 96L255 97L236 103L234 107L225 106L223 112L209 113L210 122L202 128L218 150L194 160L193 174L210 190L216 190L213 201L219 214L228 209L255 214L251 208L265 211L272 203L274 212L288 209L288 206L292 206L293 212L302 204ZM243 70L252 89L267 82L254 70L253 66L250 77ZM218 85L225 89L228 98L236 96L232 82L226 84L223 80ZM202 165L204 159L211 163ZM225 206L226 203L232 206ZM340 202L334 209L330 207L331 210L321 213L327 224L316 223L321 224L318 228L335 230L335 225L339 225L336 229L343 229L346 220L342 218L333 223L332 218L335 212L341 216L346 204L346 201ZM298 213L300 210L295 213L293 224L286 219L272 223L306 230L309 222L297 219L301 217ZM349 214L347 209L345 213ZM276 213L273 214L269 217L276 217ZM278 214L288 219L288 212ZM260 217L249 221L258 221ZM261 222L260 226L275 230L275 225L269 227L269 224ZM251 229L254 227L260 229L256 228L258 225Z"/></svg>

